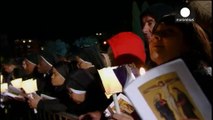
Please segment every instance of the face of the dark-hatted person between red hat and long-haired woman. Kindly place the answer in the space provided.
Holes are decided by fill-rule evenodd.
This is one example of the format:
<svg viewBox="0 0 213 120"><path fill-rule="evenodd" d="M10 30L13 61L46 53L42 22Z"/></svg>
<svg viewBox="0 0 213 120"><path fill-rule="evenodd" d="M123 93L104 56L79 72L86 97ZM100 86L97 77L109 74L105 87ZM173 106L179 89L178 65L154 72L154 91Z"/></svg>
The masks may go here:
<svg viewBox="0 0 213 120"><path fill-rule="evenodd" d="M155 26L155 19L151 16L144 16L142 18L143 28L142 32L146 40L150 41L152 35L152 29Z"/></svg>

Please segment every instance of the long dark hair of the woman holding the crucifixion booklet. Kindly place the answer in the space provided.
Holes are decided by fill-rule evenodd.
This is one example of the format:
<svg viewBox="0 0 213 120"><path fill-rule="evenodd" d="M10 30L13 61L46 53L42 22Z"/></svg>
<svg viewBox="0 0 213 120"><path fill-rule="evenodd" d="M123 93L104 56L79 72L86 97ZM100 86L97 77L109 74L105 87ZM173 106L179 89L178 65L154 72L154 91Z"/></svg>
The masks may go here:
<svg viewBox="0 0 213 120"><path fill-rule="evenodd" d="M159 24L172 25L180 29L183 33L189 52L186 54L193 60L204 62L206 65L212 65L211 43L207 34L196 22L176 22L176 14L168 14L163 16L153 28L153 34Z"/></svg>

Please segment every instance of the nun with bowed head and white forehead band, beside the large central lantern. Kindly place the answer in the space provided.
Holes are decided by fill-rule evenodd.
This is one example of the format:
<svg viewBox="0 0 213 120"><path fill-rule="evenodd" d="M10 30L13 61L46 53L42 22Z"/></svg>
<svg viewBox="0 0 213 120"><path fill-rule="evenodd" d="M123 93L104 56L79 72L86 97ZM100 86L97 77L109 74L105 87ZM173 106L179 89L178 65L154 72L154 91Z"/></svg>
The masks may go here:
<svg viewBox="0 0 213 120"><path fill-rule="evenodd" d="M77 106L69 113L82 115L91 111L103 111L111 100L105 96L105 91L96 68L78 69L70 76L68 83L70 99Z"/></svg>

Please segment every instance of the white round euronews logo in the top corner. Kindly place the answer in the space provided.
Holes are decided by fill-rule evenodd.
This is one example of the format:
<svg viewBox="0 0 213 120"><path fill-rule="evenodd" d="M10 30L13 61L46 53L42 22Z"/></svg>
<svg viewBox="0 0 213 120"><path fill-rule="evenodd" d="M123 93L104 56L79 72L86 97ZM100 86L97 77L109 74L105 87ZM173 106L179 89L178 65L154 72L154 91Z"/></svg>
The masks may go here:
<svg viewBox="0 0 213 120"><path fill-rule="evenodd" d="M176 22L193 22L194 12L190 10L188 7L182 7L179 10L179 15L176 18Z"/></svg>

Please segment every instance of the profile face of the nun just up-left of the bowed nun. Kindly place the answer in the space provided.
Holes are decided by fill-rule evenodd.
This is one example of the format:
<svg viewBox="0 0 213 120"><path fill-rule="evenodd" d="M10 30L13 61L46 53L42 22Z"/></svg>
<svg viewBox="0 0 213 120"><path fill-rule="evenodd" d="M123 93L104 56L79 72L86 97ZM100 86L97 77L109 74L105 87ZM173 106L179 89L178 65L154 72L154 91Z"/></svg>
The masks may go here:
<svg viewBox="0 0 213 120"><path fill-rule="evenodd" d="M53 68L53 74L51 76L51 83L53 86L63 85L65 78L55 69Z"/></svg>

